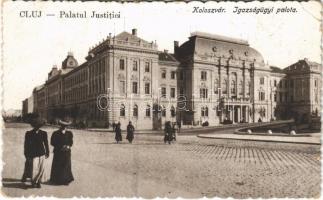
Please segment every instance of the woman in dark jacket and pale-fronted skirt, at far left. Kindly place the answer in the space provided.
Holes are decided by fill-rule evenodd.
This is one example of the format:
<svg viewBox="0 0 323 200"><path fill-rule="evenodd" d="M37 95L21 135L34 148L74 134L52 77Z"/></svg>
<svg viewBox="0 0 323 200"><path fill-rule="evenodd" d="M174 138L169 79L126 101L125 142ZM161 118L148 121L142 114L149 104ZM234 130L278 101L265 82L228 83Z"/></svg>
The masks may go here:
<svg viewBox="0 0 323 200"><path fill-rule="evenodd" d="M25 134L24 154L26 158L22 182L31 178L31 185L34 188L41 188L41 183L46 181L45 159L49 157L47 132L40 130L44 121L40 118L31 120L31 131Z"/></svg>

